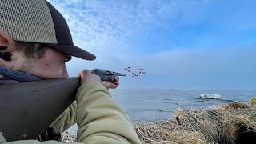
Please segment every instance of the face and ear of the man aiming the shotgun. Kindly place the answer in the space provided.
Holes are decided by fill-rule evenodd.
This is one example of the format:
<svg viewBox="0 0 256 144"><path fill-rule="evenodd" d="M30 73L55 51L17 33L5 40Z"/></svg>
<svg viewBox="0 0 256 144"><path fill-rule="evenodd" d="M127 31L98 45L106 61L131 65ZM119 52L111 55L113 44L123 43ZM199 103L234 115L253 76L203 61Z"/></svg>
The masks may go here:
<svg viewBox="0 0 256 144"><path fill-rule="evenodd" d="M0 66L39 78L66 78L69 76L65 62L69 61L71 57L62 51L48 47L42 58L27 58L23 51L16 48L10 36L2 30L0 30L0 46L6 46L6 51L12 54L11 61L0 58Z"/></svg>

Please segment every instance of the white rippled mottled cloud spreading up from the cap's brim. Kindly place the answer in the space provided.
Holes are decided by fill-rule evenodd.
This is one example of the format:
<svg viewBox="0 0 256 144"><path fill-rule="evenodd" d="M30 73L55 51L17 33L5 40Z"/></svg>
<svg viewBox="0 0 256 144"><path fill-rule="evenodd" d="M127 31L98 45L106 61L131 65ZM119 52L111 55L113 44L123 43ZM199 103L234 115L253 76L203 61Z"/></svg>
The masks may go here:
<svg viewBox="0 0 256 144"><path fill-rule="evenodd" d="M106 68L119 70L127 65L124 60L138 58L138 47L130 46L129 39L137 32L151 25L166 26L167 21L179 14L190 14L186 1L60 1L50 2L66 18L73 35L74 44L97 56L94 62L73 58L67 64L70 75L78 74L82 68ZM203 2L202 2L203 3ZM185 5L183 5L185 4ZM198 2L198 5L201 5ZM184 6L184 7L182 7ZM186 11L184 14L182 11ZM195 10L194 10L195 11ZM167 17L172 14L172 17ZM168 18L168 19L166 19ZM164 21L164 22L162 22ZM152 24L153 22L153 24ZM142 33L146 32L142 30ZM142 52L142 51L141 51Z"/></svg>

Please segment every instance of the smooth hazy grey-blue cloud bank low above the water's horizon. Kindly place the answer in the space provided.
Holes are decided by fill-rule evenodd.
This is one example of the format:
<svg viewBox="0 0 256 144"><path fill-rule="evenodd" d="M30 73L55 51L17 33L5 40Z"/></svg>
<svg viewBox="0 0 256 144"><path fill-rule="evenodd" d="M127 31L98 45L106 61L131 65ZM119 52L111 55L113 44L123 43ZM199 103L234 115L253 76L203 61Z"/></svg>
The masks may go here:
<svg viewBox="0 0 256 144"><path fill-rule="evenodd" d="M172 89L254 89L256 44L218 49L178 49L134 59L146 74L124 78L124 87L168 87ZM138 72L138 71L137 71Z"/></svg>

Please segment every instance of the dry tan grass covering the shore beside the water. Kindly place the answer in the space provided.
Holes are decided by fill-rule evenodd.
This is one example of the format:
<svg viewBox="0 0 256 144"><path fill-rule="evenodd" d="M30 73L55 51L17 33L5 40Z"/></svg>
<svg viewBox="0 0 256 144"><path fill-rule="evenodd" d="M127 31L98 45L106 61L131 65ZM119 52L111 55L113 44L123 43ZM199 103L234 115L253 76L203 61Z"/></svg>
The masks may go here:
<svg viewBox="0 0 256 144"><path fill-rule="evenodd" d="M252 132L250 134L256 137L256 107L231 102L213 110L178 109L174 118L134 122L134 128L138 138L146 144L233 144L246 132ZM63 142L75 142L74 135L67 134L62 138Z"/></svg>

